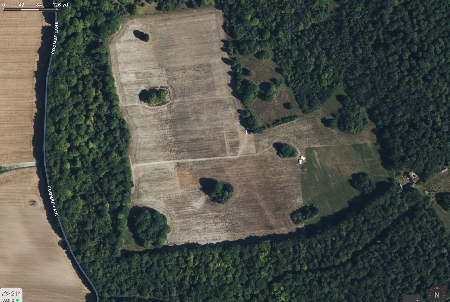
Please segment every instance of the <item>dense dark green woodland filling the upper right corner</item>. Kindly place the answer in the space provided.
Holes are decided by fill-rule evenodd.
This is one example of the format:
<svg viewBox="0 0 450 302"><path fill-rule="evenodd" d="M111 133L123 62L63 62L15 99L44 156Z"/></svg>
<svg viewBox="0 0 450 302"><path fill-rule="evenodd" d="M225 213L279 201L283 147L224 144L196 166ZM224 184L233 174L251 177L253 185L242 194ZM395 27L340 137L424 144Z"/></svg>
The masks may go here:
<svg viewBox="0 0 450 302"><path fill-rule="evenodd" d="M342 0L333 11L331 0L216 3L232 49L272 48L305 113L343 88L375 122L388 168L428 179L448 162L448 1Z"/></svg>

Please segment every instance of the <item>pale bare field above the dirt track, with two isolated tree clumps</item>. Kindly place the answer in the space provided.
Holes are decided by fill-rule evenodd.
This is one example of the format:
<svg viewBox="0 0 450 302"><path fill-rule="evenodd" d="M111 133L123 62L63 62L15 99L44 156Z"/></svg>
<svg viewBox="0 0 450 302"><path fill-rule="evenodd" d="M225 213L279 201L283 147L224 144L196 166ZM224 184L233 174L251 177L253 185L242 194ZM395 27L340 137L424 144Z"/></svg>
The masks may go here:
<svg viewBox="0 0 450 302"><path fill-rule="evenodd" d="M239 101L220 50L225 33L217 9L128 18L110 43L121 112L131 134L133 163L238 153ZM134 31L148 33L149 42ZM149 107L139 92L168 87L171 101Z"/></svg>

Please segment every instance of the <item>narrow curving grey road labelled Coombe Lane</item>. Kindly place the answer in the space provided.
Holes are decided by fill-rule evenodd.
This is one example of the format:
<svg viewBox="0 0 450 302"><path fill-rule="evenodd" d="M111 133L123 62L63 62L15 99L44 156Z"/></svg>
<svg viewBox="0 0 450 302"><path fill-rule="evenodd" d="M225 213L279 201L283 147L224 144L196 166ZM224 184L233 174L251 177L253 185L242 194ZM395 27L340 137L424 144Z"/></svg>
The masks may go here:
<svg viewBox="0 0 450 302"><path fill-rule="evenodd" d="M53 0L53 5L54 5L54 3L55 3L55 0ZM55 36L54 37L52 36L52 42L53 42L53 47L56 48L56 41L57 41L57 36L58 36L58 14L57 14L57 12L55 12L54 29L55 29L55 32L54 32ZM48 86L49 86L49 73L50 73L50 67L52 65L53 54L54 54L54 51L52 51L52 53L50 54L49 69L47 70L47 77L45 78L44 141L43 141L43 143L44 143L44 169L45 169L45 177L47 179L47 185L48 185L47 188L48 188L48 192L49 192L49 200L51 202L50 207L52 207L54 210L55 217L58 219L59 227L61 228L61 231L63 232L64 239L66 240L66 243L67 243L67 247L69 248L69 251L72 254L72 257L75 260L76 265L78 266L80 271L83 273L83 275L85 276L85 278L89 282L89 284L92 286L92 289L94 289L95 296L97 298L97 302L99 302L99 293L97 292L97 289L95 288L94 284L92 284L92 281L86 275L85 271L81 268L81 265L78 262L78 260L76 260L75 254L73 253L72 248L69 243L69 240L67 239L66 233L64 232L64 228L63 228L63 225L61 224L61 220L59 219L58 211L56 211L56 206L51 206L52 204L54 204L54 196L53 196L52 189L50 186L49 174L47 172L47 162L46 162L46 157L45 157L45 137L46 137L45 132L46 132L46 128L47 128L47 94L48 94Z"/></svg>

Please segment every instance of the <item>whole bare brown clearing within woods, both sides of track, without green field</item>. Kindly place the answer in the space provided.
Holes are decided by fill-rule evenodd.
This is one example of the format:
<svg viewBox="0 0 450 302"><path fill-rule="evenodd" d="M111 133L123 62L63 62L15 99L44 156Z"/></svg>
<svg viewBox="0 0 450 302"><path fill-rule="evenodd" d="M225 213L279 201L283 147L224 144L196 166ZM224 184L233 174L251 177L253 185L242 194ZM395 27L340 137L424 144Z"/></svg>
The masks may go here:
<svg viewBox="0 0 450 302"><path fill-rule="evenodd" d="M213 8L128 18L109 44L121 113L131 131L131 206L166 215L169 245L295 230L289 213L302 206L306 166L279 158L272 144L285 142L305 154L310 146L374 140L369 130L347 135L324 127L323 111L244 135L237 113L242 107L231 95L230 68L222 60L228 56L221 50L221 25L222 14ZM150 41L134 31L148 33ZM141 90L158 87L170 91L167 104L150 107L139 100ZM211 203L200 190L202 177L233 185L233 198ZM125 245L139 249L130 236Z"/></svg>

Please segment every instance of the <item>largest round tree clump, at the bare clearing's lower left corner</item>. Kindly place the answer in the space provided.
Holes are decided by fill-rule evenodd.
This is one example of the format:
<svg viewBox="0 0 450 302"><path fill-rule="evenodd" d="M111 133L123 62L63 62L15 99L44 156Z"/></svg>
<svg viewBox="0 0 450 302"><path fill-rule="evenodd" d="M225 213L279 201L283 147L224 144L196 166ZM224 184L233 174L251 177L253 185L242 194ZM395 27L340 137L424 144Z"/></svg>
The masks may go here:
<svg viewBox="0 0 450 302"><path fill-rule="evenodd" d="M144 248L161 248L170 232L166 216L149 207L134 208L131 212L134 216L129 227L136 243Z"/></svg>

